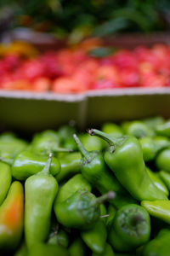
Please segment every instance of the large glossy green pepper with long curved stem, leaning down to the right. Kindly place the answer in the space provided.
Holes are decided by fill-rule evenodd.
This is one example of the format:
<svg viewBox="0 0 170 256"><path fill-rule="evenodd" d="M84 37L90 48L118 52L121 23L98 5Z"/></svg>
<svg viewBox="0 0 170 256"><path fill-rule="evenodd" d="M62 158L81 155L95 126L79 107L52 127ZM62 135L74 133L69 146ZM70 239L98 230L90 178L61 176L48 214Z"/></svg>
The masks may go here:
<svg viewBox="0 0 170 256"><path fill-rule="evenodd" d="M167 200L167 196L156 188L145 170L142 148L135 137L112 138L104 132L91 129L91 135L99 136L109 143L105 162L115 173L123 187L139 201Z"/></svg>

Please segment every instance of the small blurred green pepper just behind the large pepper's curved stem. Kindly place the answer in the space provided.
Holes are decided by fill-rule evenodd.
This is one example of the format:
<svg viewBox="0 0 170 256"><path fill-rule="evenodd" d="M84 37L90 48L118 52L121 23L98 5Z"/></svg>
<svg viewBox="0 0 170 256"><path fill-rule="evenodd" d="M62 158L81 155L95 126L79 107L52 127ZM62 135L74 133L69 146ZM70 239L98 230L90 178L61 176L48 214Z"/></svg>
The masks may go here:
<svg viewBox="0 0 170 256"><path fill-rule="evenodd" d="M113 123L105 123L101 127L101 131L109 134L111 137L122 137L123 131L119 125Z"/></svg>

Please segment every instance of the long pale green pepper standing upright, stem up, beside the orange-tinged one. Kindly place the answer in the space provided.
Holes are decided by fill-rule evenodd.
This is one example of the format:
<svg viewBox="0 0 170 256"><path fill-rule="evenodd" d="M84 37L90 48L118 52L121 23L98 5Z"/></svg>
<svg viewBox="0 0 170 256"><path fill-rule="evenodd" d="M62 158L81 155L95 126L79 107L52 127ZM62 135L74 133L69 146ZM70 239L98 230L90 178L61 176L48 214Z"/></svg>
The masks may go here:
<svg viewBox="0 0 170 256"><path fill-rule="evenodd" d="M56 179L49 174L52 155L42 169L26 179L25 183L25 236L26 246L31 248L45 241L50 228L51 211L58 191Z"/></svg>

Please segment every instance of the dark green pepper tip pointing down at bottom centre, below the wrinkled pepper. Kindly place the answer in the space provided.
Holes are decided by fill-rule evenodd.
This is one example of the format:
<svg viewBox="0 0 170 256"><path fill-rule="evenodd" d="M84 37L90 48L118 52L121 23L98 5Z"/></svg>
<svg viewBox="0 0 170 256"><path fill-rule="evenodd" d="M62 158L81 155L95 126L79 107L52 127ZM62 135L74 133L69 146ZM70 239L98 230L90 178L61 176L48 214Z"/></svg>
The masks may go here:
<svg viewBox="0 0 170 256"><path fill-rule="evenodd" d="M105 241L107 230L104 222L99 219L90 230L81 232L82 240L94 253L103 253L105 250Z"/></svg>

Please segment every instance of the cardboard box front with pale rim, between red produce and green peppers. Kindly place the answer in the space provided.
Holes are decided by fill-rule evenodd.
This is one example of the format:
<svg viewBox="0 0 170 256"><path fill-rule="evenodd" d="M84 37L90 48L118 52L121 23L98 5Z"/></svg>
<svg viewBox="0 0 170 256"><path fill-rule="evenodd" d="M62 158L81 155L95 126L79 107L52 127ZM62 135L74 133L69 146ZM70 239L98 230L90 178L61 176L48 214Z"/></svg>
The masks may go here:
<svg viewBox="0 0 170 256"><path fill-rule="evenodd" d="M87 91L77 95L0 91L1 130L35 132L75 120L88 125L153 115L169 118L170 88L131 88Z"/></svg>

